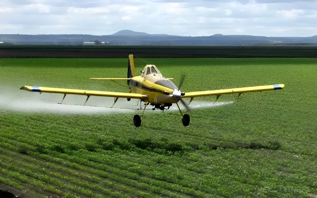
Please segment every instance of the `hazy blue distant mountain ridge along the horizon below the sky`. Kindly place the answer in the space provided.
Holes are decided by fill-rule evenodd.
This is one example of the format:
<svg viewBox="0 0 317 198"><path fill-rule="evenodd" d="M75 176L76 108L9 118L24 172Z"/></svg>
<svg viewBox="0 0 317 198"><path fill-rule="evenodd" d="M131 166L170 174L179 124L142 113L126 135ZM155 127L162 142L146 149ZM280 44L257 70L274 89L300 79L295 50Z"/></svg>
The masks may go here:
<svg viewBox="0 0 317 198"><path fill-rule="evenodd" d="M248 45L273 43L317 43L317 35L308 37L269 37L252 35L177 36L120 30L111 35L55 34L23 35L0 34L0 42L13 44L82 44L99 40L110 44L130 45Z"/></svg>

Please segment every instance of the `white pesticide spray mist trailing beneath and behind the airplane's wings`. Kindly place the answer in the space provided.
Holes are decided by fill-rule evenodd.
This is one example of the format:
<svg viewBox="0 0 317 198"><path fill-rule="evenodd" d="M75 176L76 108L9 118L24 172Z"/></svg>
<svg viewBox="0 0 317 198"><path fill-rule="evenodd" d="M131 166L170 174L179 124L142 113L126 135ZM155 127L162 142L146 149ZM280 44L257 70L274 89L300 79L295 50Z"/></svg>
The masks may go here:
<svg viewBox="0 0 317 198"><path fill-rule="evenodd" d="M0 88L1 89L1 88ZM89 100L84 105L87 96L78 95L66 95L62 104L63 94L50 94L50 93L35 93L27 92L24 90L5 90L1 89L0 92L0 110L6 109L10 111L18 112L43 112L51 114L113 114L113 113L133 113L136 109L140 108L140 103L138 104L137 99L131 99L127 101L126 98L119 98L118 101L113 106L114 108L109 108L114 103L114 98L111 97L100 97L91 96ZM187 101L187 100L186 100ZM189 102L189 101L188 101ZM192 101L189 107L191 109L201 109L201 108L213 108L222 105L230 104L230 102L208 102L208 101ZM142 103L143 105L144 103ZM184 109L181 103L179 103L181 109ZM146 109L152 109L152 106L148 105ZM168 111L178 111L175 104L170 107ZM160 110L147 111L158 113Z"/></svg>

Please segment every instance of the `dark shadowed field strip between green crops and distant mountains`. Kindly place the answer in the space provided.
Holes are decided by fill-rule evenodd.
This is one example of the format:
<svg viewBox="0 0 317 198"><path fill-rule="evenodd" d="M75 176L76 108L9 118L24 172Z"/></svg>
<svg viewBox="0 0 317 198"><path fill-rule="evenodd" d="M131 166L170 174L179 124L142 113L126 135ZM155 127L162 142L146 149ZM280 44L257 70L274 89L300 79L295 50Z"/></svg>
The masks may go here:
<svg viewBox="0 0 317 198"><path fill-rule="evenodd" d="M317 46L0 45L0 57L317 57Z"/></svg>

